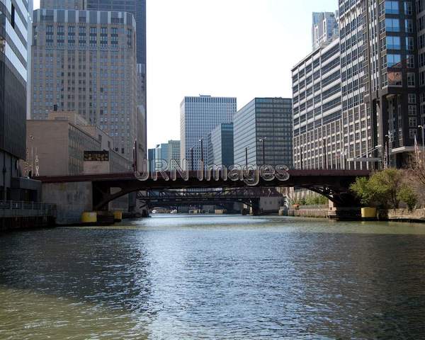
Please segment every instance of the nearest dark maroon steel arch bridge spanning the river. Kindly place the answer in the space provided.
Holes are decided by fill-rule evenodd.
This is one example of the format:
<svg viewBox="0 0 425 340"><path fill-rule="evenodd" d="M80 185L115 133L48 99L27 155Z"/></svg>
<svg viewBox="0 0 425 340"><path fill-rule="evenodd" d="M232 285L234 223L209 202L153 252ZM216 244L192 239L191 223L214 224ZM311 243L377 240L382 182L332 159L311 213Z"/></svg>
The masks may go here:
<svg viewBox="0 0 425 340"><path fill-rule="evenodd" d="M358 206L358 200L349 191L351 183L359 176L369 176L368 170L289 170L285 180L273 178L259 178L255 187L277 188L297 187L307 188L329 198L335 207ZM91 174L77 176L44 176L37 177L42 181L43 200L48 203L57 203L64 200L68 207L80 204L85 210L106 210L108 203L127 195L128 193L148 190L173 190L190 188L246 188L253 187L244 181L242 171L239 176L230 178L198 179L196 171L188 171L187 178L177 174L171 179L168 172L154 173L139 179L134 173L128 174ZM69 193L77 191L70 197ZM84 207L81 203L84 200ZM65 202L66 201L66 202ZM59 210L60 207L58 207ZM83 210L84 211L84 210ZM59 212L58 212L59 214Z"/></svg>

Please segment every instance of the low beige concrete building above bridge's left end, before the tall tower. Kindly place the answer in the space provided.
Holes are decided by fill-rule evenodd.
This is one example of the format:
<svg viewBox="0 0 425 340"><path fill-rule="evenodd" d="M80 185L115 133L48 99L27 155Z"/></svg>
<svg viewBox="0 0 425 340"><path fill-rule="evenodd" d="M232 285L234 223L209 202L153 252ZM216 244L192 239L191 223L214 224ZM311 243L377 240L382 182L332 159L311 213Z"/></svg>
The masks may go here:
<svg viewBox="0 0 425 340"><path fill-rule="evenodd" d="M27 121L32 176L67 176L131 171L131 162L113 151L113 140L77 113L52 112L47 120Z"/></svg>

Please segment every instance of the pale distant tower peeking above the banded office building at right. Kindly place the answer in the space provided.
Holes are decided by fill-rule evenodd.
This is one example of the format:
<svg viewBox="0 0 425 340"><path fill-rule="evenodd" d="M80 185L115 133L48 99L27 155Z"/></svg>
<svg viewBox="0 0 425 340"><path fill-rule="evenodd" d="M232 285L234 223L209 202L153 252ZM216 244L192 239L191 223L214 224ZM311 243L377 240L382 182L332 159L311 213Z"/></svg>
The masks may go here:
<svg viewBox="0 0 425 340"><path fill-rule="evenodd" d="M337 38L339 12L314 12L312 14L312 47L316 50L318 47Z"/></svg>

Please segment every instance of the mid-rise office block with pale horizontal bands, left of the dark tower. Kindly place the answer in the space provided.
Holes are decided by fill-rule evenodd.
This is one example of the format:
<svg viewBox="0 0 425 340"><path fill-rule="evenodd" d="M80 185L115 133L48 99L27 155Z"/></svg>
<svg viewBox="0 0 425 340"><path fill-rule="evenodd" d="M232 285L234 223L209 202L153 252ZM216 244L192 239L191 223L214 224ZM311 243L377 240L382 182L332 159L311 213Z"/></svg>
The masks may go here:
<svg viewBox="0 0 425 340"><path fill-rule="evenodd" d="M364 105L343 111L339 48L336 39L292 70L295 169L367 167L347 163L373 147L372 127ZM353 82L351 94L358 96L358 80Z"/></svg>

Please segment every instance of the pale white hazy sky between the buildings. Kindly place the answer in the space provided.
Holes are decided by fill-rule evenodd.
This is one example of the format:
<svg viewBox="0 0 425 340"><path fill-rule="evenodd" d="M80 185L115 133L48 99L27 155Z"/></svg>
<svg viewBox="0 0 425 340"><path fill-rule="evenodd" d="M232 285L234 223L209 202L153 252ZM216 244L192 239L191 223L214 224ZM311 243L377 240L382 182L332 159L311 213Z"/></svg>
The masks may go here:
<svg viewBox="0 0 425 340"><path fill-rule="evenodd" d="M313 11L337 0L147 0L147 144L180 139L184 96L292 96ZM35 8L40 1L35 0Z"/></svg>

